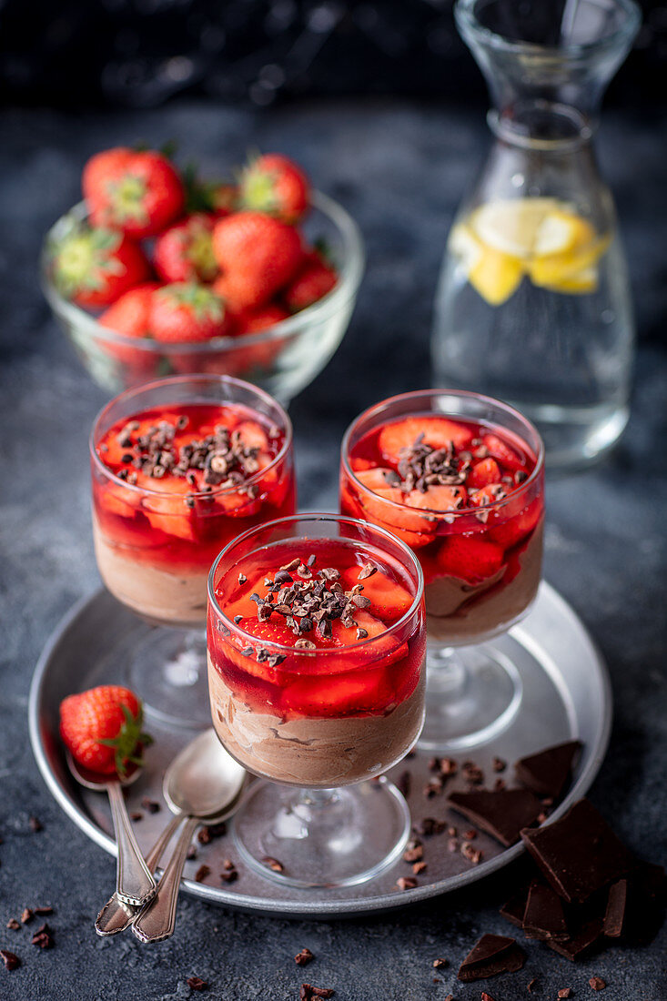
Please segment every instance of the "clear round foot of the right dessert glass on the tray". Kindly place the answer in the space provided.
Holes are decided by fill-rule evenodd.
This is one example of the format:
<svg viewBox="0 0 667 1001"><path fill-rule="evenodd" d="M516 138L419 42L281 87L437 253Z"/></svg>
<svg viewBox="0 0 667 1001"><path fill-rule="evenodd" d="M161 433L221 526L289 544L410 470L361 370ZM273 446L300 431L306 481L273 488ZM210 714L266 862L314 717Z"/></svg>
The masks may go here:
<svg viewBox="0 0 667 1001"><path fill-rule="evenodd" d="M519 672L492 647L429 646L426 720L418 746L447 753L485 744L509 727L522 698Z"/></svg>

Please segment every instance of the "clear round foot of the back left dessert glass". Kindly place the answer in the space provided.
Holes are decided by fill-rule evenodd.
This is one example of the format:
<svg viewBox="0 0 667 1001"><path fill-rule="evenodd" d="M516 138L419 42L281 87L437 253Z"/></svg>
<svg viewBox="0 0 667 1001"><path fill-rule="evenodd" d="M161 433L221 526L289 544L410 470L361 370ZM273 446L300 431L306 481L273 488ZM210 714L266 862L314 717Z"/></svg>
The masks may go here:
<svg viewBox="0 0 667 1001"><path fill-rule="evenodd" d="M209 727L205 631L150 629L132 650L127 684L148 718L168 726Z"/></svg>

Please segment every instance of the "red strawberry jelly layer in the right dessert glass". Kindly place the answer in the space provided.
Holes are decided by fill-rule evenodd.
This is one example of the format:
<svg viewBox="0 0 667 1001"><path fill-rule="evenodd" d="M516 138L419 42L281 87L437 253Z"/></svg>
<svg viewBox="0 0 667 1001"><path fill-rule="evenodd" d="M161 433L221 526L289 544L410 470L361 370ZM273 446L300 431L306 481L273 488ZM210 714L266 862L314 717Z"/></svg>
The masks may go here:
<svg viewBox="0 0 667 1001"><path fill-rule="evenodd" d="M427 585L452 577L474 587L501 574L495 587L503 587L542 518L542 491L526 485L536 461L525 441L498 426L433 412L402 417L353 447L350 465L366 488L344 468L341 510L403 539Z"/></svg>

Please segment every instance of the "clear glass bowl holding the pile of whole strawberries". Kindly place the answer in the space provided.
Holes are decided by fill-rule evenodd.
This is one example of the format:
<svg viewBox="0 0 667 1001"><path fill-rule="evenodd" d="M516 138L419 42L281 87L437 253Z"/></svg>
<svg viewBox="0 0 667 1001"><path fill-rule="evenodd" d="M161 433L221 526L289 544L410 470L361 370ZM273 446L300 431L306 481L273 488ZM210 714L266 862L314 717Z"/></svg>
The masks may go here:
<svg viewBox="0 0 667 1001"><path fill-rule="evenodd" d="M352 216L319 191L312 192L311 204L302 230L309 242L322 239L330 248L339 281L317 302L260 333L165 344L116 333L63 298L51 280L50 247L85 219L83 202L46 234L40 263L44 294L88 372L110 393L163 375L210 372L247 379L286 403L312 381L341 343L364 273L364 242Z"/></svg>

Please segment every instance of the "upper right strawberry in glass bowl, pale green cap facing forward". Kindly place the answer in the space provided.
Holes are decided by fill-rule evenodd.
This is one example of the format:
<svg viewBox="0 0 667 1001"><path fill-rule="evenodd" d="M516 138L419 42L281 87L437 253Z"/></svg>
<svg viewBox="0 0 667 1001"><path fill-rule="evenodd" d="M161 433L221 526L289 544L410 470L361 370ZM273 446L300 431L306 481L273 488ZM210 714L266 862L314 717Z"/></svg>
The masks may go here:
<svg viewBox="0 0 667 1001"><path fill-rule="evenodd" d="M298 222L310 200L310 185L296 164L280 153L258 156L243 170L238 185L244 208L268 212L283 222Z"/></svg>

